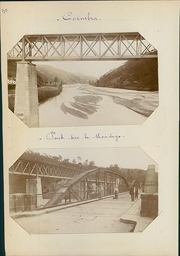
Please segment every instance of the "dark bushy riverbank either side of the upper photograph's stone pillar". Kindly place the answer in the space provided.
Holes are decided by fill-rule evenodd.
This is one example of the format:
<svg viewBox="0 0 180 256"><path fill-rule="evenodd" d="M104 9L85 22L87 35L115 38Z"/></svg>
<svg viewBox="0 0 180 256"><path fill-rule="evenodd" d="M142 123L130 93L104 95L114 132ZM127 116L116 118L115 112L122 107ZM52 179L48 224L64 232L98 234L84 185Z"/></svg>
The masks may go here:
<svg viewBox="0 0 180 256"><path fill-rule="evenodd" d="M59 95L62 92L62 86L41 86L38 87L38 102L43 103L46 102L47 99L53 98ZM14 100L15 97L8 96L8 107L14 113Z"/></svg>

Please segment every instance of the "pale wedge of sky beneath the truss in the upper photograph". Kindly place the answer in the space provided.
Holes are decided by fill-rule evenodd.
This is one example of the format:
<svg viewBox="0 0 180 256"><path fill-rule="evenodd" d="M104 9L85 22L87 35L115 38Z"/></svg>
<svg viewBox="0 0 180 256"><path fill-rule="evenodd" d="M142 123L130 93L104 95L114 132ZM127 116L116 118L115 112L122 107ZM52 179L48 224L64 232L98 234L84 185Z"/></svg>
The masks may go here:
<svg viewBox="0 0 180 256"><path fill-rule="evenodd" d="M37 61L36 65L50 65L67 72L79 72L85 75L100 78L101 75L108 72L110 69L116 68L124 64L126 61Z"/></svg>

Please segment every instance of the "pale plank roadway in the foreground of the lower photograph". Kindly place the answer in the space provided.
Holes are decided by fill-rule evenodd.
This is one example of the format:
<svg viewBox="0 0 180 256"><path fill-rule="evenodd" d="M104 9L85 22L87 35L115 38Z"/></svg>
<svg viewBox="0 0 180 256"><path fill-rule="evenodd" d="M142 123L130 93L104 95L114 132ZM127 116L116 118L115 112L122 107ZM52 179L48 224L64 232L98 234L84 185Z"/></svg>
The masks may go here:
<svg viewBox="0 0 180 256"><path fill-rule="evenodd" d="M30 234L126 233L132 226L121 223L120 217L133 204L129 193L125 193L118 199L106 198L16 221Z"/></svg>

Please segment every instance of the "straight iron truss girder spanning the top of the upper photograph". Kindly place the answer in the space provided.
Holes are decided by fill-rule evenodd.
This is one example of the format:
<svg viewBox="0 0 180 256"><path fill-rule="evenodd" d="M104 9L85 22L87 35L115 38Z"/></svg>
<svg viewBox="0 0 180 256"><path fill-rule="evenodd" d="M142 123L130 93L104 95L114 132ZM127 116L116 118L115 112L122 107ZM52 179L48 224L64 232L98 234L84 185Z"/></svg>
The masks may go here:
<svg viewBox="0 0 180 256"><path fill-rule="evenodd" d="M157 50L139 33L55 34L23 36L8 60L139 60L157 58Z"/></svg>

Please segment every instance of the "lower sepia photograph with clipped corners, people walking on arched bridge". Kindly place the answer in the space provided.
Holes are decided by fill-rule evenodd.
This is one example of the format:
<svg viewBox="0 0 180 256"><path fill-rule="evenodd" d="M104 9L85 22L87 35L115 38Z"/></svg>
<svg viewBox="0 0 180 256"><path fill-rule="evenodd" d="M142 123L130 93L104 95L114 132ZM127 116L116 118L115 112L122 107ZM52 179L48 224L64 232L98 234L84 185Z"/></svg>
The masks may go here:
<svg viewBox="0 0 180 256"><path fill-rule="evenodd" d="M29 234L137 233L158 216L158 164L140 148L28 149L9 192Z"/></svg>

